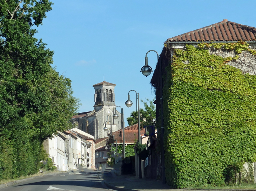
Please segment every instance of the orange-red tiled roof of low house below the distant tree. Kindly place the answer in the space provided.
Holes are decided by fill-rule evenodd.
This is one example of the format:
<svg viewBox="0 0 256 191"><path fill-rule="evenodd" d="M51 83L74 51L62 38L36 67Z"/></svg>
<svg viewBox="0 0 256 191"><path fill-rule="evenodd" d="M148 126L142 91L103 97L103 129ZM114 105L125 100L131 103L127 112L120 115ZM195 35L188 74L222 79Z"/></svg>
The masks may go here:
<svg viewBox="0 0 256 191"><path fill-rule="evenodd" d="M137 127L137 128L136 128ZM140 134L143 136L145 130L141 130ZM123 130L119 130L113 133L115 135L115 139L117 139L117 143L123 143ZM124 142L126 144L134 144L135 139L138 139L138 124L128 126L124 128Z"/></svg>

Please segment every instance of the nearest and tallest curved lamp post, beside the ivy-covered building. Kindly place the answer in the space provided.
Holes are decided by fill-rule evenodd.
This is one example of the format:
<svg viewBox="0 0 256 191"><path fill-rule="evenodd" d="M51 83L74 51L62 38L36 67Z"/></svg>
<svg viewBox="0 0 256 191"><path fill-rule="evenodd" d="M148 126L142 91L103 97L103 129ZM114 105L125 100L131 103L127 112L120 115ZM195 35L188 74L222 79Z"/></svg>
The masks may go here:
<svg viewBox="0 0 256 191"><path fill-rule="evenodd" d="M141 68L141 72L143 75L146 77L150 75L150 73L153 71L152 68L148 65L148 57L147 54L149 52L155 52L157 54L157 63L158 63L158 82L160 86L160 108L161 108L161 159L162 159L162 179L163 183L166 183L165 180L165 168L164 168L164 148L163 148L163 134L164 134L164 127L163 127L163 84L162 84L162 64L161 64L161 59L159 60L159 54L155 50L149 50L146 53L145 57L145 65Z"/></svg>

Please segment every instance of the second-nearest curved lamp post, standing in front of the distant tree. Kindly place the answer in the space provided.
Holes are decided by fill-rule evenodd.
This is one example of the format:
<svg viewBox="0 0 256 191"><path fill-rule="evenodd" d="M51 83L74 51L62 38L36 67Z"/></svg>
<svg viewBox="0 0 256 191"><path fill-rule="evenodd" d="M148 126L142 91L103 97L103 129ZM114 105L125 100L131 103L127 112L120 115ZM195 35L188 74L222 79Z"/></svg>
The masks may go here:
<svg viewBox="0 0 256 191"><path fill-rule="evenodd" d="M130 100L130 92L131 91L135 91L135 90L130 90L128 92L128 100L125 102L126 106L129 108L130 106L132 106L133 102ZM138 111L138 139L139 139L139 143L141 144L141 138L140 138L140 96L139 93L136 93L136 111ZM138 95L138 97L137 97ZM138 107L137 107L138 106ZM139 158L139 178L141 177L141 160Z"/></svg>

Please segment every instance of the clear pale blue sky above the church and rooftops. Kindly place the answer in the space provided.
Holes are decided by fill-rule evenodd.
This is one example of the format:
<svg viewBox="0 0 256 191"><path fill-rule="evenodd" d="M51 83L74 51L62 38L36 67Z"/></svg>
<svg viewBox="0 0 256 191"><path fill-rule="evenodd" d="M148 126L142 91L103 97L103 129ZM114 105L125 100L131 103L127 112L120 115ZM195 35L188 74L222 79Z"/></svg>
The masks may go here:
<svg viewBox="0 0 256 191"><path fill-rule="evenodd" d="M92 111L93 85L115 83L116 105L124 108L124 118L136 110L127 108L129 90L140 99L154 98L151 76L140 69L148 50L162 51L167 38L201 27L228 21L256 27L253 7L256 1L236 0L52 0L37 38L54 51L56 70L72 80L74 96L81 100L79 112ZM157 56L148 54L155 68ZM151 94L152 92L152 94ZM141 104L142 105L142 104ZM120 108L119 108L120 109ZM125 120L126 122L126 120ZM127 122L125 124L128 125Z"/></svg>

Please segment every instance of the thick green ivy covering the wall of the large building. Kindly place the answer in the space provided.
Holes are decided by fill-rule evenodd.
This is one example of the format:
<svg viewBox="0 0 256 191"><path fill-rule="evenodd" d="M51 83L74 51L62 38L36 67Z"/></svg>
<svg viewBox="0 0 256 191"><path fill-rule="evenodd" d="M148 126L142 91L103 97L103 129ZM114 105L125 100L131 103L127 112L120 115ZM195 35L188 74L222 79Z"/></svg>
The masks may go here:
<svg viewBox="0 0 256 191"><path fill-rule="evenodd" d="M222 185L256 161L256 76L234 67L243 55L255 59L248 47L201 43L174 50L163 88L166 179L173 187Z"/></svg>

